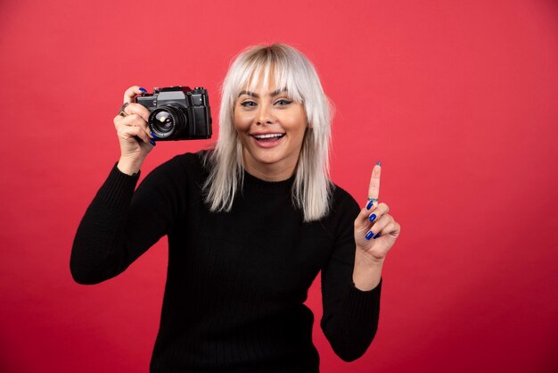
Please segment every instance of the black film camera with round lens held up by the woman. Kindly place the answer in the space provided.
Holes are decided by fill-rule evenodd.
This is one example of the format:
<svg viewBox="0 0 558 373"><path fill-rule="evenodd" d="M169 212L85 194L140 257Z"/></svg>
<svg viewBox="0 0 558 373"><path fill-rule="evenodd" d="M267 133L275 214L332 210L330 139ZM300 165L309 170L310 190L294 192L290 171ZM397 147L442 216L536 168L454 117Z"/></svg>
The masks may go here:
<svg viewBox="0 0 558 373"><path fill-rule="evenodd" d="M147 123L158 141L211 138L209 96L203 87L153 88L135 102L151 112Z"/></svg>

